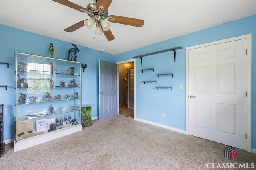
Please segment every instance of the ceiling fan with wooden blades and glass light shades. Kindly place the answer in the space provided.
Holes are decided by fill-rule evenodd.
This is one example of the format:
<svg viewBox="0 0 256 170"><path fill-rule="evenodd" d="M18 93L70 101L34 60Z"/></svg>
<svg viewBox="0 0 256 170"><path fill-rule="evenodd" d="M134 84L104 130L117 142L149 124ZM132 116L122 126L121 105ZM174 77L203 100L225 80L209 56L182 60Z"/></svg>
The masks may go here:
<svg viewBox="0 0 256 170"><path fill-rule="evenodd" d="M52 0L58 2L62 5L68 6L80 12L84 12L90 16L90 19L82 20L66 29L66 32L73 32L77 29L86 26L88 29L92 29L94 27L94 23L96 26L95 34L101 35L102 32L108 39L111 41L115 39L114 35L110 31L110 24L105 21L108 20L113 23L120 23L124 25L130 25L134 27L142 27L144 25L144 20L136 19L136 18L128 18L123 16L108 16L108 7L110 6L112 0L95 0L95 2L91 2L87 5L87 8L74 4L68 0Z"/></svg>

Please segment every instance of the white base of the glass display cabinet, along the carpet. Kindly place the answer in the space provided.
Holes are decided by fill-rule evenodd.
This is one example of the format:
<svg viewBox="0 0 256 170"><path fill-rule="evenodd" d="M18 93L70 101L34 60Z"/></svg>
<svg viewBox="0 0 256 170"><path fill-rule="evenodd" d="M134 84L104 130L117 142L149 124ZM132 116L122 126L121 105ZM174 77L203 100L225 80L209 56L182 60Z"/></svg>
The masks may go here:
<svg viewBox="0 0 256 170"><path fill-rule="evenodd" d="M70 128L64 128L64 129L59 129L57 131L52 131L50 133L45 133L42 135L30 137L27 139L22 139L20 141L14 142L14 152L26 149L35 145L39 145L44 142L51 141L53 139L57 139L59 137L63 137L78 131L82 131L82 125L73 125Z"/></svg>

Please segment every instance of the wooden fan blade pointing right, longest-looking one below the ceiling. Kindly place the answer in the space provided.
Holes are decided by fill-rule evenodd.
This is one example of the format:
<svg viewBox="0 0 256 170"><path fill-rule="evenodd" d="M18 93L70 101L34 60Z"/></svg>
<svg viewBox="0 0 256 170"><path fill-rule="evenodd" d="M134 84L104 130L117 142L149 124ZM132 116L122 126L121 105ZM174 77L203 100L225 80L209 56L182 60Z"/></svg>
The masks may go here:
<svg viewBox="0 0 256 170"><path fill-rule="evenodd" d="M108 21L114 22L114 23L131 25L134 27L142 27L142 25L144 25L144 20L140 20L140 19L136 19L136 18L128 18L128 17L114 16L114 15L110 15L108 17L115 18L116 20L114 20L114 21L108 20Z"/></svg>

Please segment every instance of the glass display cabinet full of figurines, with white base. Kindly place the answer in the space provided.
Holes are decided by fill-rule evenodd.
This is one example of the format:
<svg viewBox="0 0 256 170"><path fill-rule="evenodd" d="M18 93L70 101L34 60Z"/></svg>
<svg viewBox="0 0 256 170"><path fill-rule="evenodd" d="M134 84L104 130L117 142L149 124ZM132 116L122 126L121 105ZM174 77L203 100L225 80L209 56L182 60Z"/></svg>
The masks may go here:
<svg viewBox="0 0 256 170"><path fill-rule="evenodd" d="M15 52L15 152L82 130L81 64Z"/></svg>

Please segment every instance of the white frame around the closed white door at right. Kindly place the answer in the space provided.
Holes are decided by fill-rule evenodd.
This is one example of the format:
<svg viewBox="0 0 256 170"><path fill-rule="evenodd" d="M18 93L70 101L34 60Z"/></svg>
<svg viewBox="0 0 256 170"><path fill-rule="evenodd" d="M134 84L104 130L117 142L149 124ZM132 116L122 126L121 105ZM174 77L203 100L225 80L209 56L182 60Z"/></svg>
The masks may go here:
<svg viewBox="0 0 256 170"><path fill-rule="evenodd" d="M226 43L230 41L236 41L240 39L246 39L246 151L252 152L252 96L251 96L251 86L252 86L252 34L241 35L238 37L232 37L228 39L222 39L219 41L214 41L210 43L195 45L191 47L186 47L186 134L189 135L189 50L196 49L200 47L216 45L220 43Z"/></svg>

